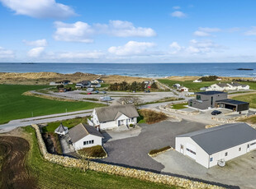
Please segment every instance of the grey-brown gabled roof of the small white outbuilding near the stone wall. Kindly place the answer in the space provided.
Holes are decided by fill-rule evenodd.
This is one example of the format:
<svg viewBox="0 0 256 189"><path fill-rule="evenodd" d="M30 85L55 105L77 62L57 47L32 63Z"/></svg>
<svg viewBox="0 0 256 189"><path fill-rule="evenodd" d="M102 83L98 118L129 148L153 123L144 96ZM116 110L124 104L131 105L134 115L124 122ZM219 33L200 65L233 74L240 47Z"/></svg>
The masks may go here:
<svg viewBox="0 0 256 189"><path fill-rule="evenodd" d="M69 130L69 136L73 143L83 139L83 137L88 135L99 136L103 138L102 134L97 131L95 127L83 123L79 123L77 126Z"/></svg>

